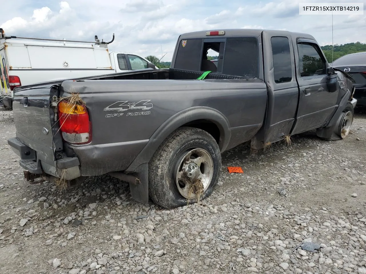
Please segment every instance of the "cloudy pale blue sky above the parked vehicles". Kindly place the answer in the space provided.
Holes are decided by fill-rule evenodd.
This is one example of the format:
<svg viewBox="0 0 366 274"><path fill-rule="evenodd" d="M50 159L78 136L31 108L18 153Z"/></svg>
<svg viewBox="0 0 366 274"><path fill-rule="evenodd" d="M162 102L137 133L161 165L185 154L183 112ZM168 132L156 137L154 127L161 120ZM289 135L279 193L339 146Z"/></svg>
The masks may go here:
<svg viewBox="0 0 366 274"><path fill-rule="evenodd" d="M110 51L155 55L171 61L180 34L227 28L265 28L309 33L332 44L331 15L299 15L314 0L16 0L1 4L5 35L81 41L115 41ZM326 1L324 1L326 2ZM332 3L365 0L333 0ZM364 15L333 15L335 44L366 43Z"/></svg>

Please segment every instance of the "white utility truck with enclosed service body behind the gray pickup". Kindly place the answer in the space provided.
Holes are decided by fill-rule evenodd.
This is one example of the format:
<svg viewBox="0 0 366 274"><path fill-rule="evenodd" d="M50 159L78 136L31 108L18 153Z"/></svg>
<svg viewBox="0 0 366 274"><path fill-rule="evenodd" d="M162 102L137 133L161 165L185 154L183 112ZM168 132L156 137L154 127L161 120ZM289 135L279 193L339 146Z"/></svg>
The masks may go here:
<svg viewBox="0 0 366 274"><path fill-rule="evenodd" d="M109 42L5 36L0 28L0 104L12 107L13 90L44 81L157 67L135 53L109 52Z"/></svg>

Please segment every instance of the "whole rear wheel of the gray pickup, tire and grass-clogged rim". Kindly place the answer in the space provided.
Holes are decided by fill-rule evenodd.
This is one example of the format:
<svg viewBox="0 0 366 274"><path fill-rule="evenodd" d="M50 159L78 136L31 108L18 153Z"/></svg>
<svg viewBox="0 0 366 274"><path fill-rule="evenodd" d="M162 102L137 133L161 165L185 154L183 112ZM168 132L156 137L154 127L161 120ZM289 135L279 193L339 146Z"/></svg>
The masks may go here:
<svg viewBox="0 0 366 274"><path fill-rule="evenodd" d="M210 195L221 170L219 145L207 132L179 128L149 163L149 195L167 209L199 202Z"/></svg>

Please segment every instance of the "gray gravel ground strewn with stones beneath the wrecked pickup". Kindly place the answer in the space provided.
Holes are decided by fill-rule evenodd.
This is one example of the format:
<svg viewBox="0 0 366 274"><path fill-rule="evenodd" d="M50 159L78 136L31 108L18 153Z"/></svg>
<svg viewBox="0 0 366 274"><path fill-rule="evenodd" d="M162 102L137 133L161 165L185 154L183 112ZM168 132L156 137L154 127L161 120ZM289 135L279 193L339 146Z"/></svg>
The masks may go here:
<svg viewBox="0 0 366 274"><path fill-rule="evenodd" d="M366 274L365 114L346 140L309 132L257 155L225 152L214 193L174 210L135 203L109 176L63 193L29 184L7 144L14 135L1 109L1 274ZM299 247L309 242L320 246Z"/></svg>

